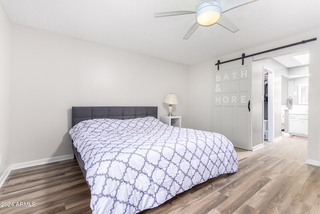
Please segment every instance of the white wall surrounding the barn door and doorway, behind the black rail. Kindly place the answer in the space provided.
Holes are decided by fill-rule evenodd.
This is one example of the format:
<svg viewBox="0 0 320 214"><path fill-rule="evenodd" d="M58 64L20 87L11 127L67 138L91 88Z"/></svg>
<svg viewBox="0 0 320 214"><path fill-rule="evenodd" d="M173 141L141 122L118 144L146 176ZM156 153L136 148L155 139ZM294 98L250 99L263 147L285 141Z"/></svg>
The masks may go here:
<svg viewBox="0 0 320 214"><path fill-rule="evenodd" d="M242 53L246 55L254 54L257 52L265 51L268 49L300 42L302 40L308 40L312 38L320 38L320 29L306 32L293 37L285 38L283 40L275 41L272 43L264 44L258 47L241 50L237 53L233 53L227 56L221 56L210 61L199 63L190 66L190 79L195 78L195 81L190 81L190 106L189 106L189 126L195 129L210 129L211 119L211 78L212 78L212 66L217 60L226 61L233 58L241 57ZM280 56L288 53L301 51L302 49L308 49L310 53L309 62L309 120L308 120L308 155L311 160L320 163L320 42L319 40L306 43L303 45L293 46L286 49L281 49L274 52L269 52L263 55L257 55L253 60L260 60L275 56ZM241 61L239 61L241 63ZM209 84L209 85L208 85ZM201 96L198 96L201 94ZM205 100L203 102L203 100ZM200 112L200 115L198 115ZM192 121L192 122L191 122ZM205 127L204 127L205 126Z"/></svg>

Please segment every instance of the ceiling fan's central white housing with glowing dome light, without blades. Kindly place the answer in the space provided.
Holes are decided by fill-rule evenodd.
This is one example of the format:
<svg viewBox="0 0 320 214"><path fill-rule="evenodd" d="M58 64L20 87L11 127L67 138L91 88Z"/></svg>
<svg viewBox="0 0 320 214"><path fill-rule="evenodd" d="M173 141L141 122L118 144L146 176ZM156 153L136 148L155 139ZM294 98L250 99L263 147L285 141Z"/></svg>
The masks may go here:
<svg viewBox="0 0 320 214"><path fill-rule="evenodd" d="M216 23L221 16L221 3L218 0L201 1L196 6L195 18L202 26L210 26Z"/></svg>

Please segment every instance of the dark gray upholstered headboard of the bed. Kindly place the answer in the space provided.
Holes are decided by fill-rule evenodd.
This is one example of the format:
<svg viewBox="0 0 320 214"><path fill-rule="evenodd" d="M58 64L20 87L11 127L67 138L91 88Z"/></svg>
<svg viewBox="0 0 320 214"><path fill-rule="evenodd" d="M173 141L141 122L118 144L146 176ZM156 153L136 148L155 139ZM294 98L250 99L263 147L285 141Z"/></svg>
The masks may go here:
<svg viewBox="0 0 320 214"><path fill-rule="evenodd" d="M156 106L72 107L72 127L83 120L96 118L132 119L152 116L157 118Z"/></svg>

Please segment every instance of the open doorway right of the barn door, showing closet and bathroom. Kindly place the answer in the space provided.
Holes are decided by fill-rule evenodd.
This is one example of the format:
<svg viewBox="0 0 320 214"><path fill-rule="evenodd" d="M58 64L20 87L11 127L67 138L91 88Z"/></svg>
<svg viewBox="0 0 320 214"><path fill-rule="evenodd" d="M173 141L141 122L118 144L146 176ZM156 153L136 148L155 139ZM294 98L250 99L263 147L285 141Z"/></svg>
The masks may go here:
<svg viewBox="0 0 320 214"><path fill-rule="evenodd" d="M263 141L275 142L283 135L307 137L308 60L300 62L300 56L308 58L308 50L258 62L263 78Z"/></svg>

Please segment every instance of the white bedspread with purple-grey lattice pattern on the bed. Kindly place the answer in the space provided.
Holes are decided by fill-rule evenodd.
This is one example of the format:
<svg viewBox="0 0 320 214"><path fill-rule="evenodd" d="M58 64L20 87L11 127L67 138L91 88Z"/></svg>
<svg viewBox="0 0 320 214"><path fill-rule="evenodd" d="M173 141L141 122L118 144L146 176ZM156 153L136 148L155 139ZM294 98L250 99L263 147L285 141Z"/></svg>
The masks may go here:
<svg viewBox="0 0 320 214"><path fill-rule="evenodd" d="M238 169L223 135L154 117L86 120L69 133L85 163L92 213L137 213Z"/></svg>

